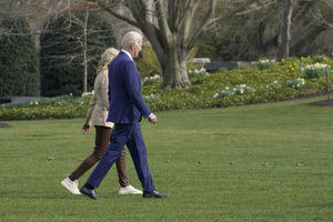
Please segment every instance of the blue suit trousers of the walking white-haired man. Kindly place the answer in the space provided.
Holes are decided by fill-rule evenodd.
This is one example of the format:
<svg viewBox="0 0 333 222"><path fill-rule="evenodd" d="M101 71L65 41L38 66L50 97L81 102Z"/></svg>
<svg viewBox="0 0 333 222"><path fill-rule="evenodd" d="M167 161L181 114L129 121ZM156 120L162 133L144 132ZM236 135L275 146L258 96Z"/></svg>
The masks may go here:
<svg viewBox="0 0 333 222"><path fill-rule="evenodd" d="M98 188L114 161L120 157L124 145L128 147L131 153L143 191L154 191L155 186L148 167L147 149L143 141L140 122L130 124L115 123L115 129L111 137L111 143L109 144L103 158L90 174L87 183L93 188Z"/></svg>

